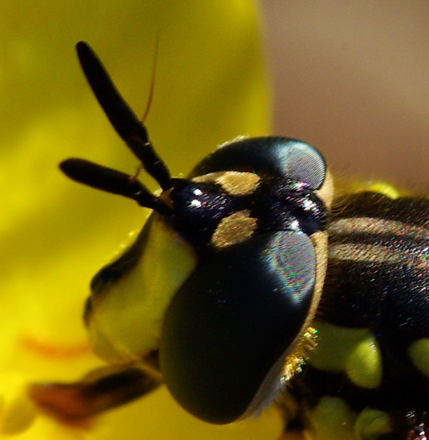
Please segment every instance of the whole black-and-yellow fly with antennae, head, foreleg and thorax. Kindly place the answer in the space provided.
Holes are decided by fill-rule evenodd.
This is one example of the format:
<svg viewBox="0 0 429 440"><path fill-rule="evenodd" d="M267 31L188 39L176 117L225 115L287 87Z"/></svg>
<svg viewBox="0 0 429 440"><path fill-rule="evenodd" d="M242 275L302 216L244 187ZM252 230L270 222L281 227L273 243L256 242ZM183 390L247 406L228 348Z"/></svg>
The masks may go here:
<svg viewBox="0 0 429 440"><path fill-rule="evenodd" d="M33 399L73 421L164 382L210 423L276 401L286 431L310 439L426 439L429 199L390 187L334 193L322 155L282 137L226 143L172 178L95 53L84 42L77 50L161 191L87 160L61 163L72 179L153 213L91 282L89 339L115 366L35 384Z"/></svg>

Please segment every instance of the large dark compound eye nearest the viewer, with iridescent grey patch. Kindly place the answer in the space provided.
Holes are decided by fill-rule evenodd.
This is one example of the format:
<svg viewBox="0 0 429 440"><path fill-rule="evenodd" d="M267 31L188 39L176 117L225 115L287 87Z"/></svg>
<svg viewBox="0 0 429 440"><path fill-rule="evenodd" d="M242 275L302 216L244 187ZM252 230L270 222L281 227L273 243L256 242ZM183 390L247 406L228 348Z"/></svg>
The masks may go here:
<svg viewBox="0 0 429 440"><path fill-rule="evenodd" d="M316 256L292 231L206 255L164 316L161 371L173 397L210 423L253 414L273 396L308 317Z"/></svg>

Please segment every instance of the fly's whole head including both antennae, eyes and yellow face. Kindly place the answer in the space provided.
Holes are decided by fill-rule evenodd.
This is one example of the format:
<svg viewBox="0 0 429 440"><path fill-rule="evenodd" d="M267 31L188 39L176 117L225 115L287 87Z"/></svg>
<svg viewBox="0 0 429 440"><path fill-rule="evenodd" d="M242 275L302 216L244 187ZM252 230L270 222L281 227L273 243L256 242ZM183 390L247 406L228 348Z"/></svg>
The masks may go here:
<svg viewBox="0 0 429 440"><path fill-rule="evenodd" d="M171 178L93 52L79 43L78 53L109 120L163 190L153 196L135 178L86 160L61 164L77 181L154 210L131 248L92 281L85 315L94 350L121 363L144 363L157 352L162 377L185 409L220 424L249 415L279 388L285 357L303 355L319 302L332 197L325 161L295 139L240 139L187 179ZM135 311L153 301L142 262L154 234L164 234L166 253L177 245L173 254L182 258L167 263L181 276L167 276L165 292L155 289L163 298L159 341L148 346L139 336L147 317Z"/></svg>

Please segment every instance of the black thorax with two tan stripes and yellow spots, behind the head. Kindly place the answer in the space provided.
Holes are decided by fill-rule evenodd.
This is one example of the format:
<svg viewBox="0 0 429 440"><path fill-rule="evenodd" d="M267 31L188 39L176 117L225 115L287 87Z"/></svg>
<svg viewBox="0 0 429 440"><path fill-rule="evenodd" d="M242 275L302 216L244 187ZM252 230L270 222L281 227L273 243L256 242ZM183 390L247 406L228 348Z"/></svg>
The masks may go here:
<svg viewBox="0 0 429 440"><path fill-rule="evenodd" d="M291 387L301 422L314 439L426 439L429 200L363 191L335 204L319 344Z"/></svg>

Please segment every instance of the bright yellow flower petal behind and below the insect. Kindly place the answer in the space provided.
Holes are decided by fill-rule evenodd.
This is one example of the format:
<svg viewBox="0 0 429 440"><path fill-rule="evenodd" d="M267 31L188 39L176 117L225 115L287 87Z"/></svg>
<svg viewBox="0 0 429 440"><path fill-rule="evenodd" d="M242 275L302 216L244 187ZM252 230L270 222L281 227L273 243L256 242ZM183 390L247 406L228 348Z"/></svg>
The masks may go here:
<svg viewBox="0 0 429 440"><path fill-rule="evenodd" d="M21 384L76 380L101 364L88 351L81 319L88 281L127 233L141 227L147 210L79 187L57 169L69 156L129 173L136 165L98 109L73 46L90 42L130 105L143 114L158 35L155 97L146 124L173 174L186 173L237 135L269 132L252 1L0 5L3 377L14 372ZM18 385L12 389L22 396ZM28 407L21 409L19 429L33 420ZM100 417L90 430L40 416L15 438L140 439L143 431L145 439L190 438L192 432L195 438L275 438L277 414L262 419L211 427L160 390Z"/></svg>

